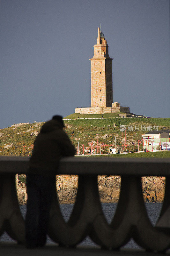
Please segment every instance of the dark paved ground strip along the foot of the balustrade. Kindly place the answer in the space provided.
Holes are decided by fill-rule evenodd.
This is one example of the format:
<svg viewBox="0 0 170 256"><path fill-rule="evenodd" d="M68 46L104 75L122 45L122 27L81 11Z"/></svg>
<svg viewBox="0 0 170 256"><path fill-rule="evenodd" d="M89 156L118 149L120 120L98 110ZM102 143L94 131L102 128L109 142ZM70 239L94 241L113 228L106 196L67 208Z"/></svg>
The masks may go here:
<svg viewBox="0 0 170 256"><path fill-rule="evenodd" d="M47 245L44 248L26 249L16 243L0 243L1 256L162 256L162 253L145 252L144 250L124 249L121 251L107 251L90 246L78 246L77 248L63 248L56 245ZM169 255L167 252L164 255Z"/></svg>

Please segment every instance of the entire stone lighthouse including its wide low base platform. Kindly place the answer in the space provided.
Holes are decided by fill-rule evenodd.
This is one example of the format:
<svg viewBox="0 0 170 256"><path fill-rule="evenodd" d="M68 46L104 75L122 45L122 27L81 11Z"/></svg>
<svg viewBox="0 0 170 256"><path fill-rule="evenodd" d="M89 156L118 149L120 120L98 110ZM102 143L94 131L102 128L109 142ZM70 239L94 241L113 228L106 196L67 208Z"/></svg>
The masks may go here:
<svg viewBox="0 0 170 256"><path fill-rule="evenodd" d="M113 103L112 58L103 32L98 28L97 44L91 63L91 107L75 108L79 114L130 113L129 107ZM135 114L134 114L135 115Z"/></svg>

